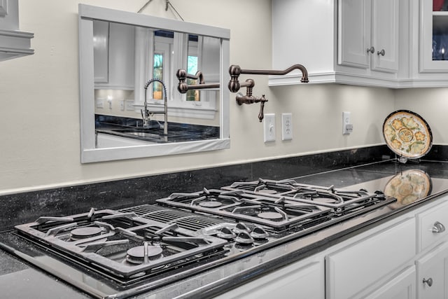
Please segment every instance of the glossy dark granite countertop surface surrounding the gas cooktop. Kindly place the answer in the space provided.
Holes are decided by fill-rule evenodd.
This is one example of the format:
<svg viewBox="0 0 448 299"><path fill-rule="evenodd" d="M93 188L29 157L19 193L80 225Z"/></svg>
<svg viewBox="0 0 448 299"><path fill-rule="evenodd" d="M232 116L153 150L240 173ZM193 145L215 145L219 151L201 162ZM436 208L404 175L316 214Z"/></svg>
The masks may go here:
<svg viewBox="0 0 448 299"><path fill-rule="evenodd" d="M406 164L401 164L387 160L356 167L330 170L319 174L297 176L295 179L300 183L323 186L334 185L335 188L369 186L368 190L381 190L396 174L413 169L418 169L428 174L432 182L430 194L416 202L406 206L397 206L395 204L391 207L389 205L372 211L367 216L363 216L363 221L353 218L311 235L304 235L300 239L291 237L286 240L287 242L278 246L197 274L194 277L186 277L181 281L177 281L176 284L140 295L138 298L213 298L215 295L224 293L225 290L233 288L238 284L244 284L258 275L272 271L275 267L281 267L287 263L310 256L328 248L328 246L373 228L378 223L391 220L393 217L404 214L410 209L422 207L428 202L437 200L439 195L448 192L448 162L422 160L419 163L409 161ZM45 285L45 289L51 289L52 291L43 293L41 291L42 285ZM71 286L67 286L62 281L44 274L40 270L36 270L34 267L30 267L13 258L8 253L1 251L0 286L2 286L2 292L9 292L8 298L89 298L83 293L74 290ZM38 295L43 295L43 297L38 297Z"/></svg>

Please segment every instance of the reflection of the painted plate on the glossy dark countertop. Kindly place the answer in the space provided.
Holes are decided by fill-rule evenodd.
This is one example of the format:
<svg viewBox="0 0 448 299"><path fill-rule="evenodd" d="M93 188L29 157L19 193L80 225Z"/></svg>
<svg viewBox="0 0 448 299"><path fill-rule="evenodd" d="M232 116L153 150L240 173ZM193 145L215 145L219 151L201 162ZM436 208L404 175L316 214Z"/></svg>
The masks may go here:
<svg viewBox="0 0 448 299"><path fill-rule="evenodd" d="M405 206L430 194L433 182L420 169L409 169L393 176L384 187L384 195L393 196L397 204Z"/></svg>

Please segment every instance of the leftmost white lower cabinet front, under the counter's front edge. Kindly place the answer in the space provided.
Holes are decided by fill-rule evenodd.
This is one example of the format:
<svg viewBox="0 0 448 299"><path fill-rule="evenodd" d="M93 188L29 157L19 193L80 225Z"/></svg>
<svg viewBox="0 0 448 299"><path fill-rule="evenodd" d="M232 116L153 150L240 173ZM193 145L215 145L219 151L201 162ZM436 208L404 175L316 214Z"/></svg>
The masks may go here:
<svg viewBox="0 0 448 299"><path fill-rule="evenodd" d="M324 299L323 277L323 258L307 258L239 286L215 299Z"/></svg>

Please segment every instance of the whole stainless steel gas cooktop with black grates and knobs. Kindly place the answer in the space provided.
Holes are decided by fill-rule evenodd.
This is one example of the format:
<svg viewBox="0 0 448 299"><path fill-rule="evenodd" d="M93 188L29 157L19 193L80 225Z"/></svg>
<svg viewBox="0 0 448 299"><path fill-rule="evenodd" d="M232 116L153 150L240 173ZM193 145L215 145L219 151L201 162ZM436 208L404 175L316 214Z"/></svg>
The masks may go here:
<svg viewBox="0 0 448 299"><path fill-rule="evenodd" d="M127 298L394 201L259 179L127 209L42 216L0 234L0 248L94 297Z"/></svg>

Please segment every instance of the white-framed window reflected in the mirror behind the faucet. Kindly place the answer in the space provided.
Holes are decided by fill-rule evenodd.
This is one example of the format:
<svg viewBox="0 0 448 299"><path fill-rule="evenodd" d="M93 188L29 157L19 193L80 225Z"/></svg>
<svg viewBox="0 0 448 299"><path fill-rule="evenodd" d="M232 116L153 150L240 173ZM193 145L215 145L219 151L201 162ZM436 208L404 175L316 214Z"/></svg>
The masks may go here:
<svg viewBox="0 0 448 299"><path fill-rule="evenodd" d="M146 45L146 50L136 53L135 104L144 104L144 91L141 86L150 78L161 79L167 88L168 114L189 118L213 119L218 113L219 88L213 90L189 90L181 94L177 90L179 81L177 69L186 69L189 74L202 71L206 83L218 83L220 72L220 40L208 36L195 36L178 32L167 32L147 28L139 29L136 34L137 43ZM151 45L154 45L151 47ZM136 47L138 48L138 47ZM195 84L195 80L188 81ZM139 90L140 89L140 90ZM153 83L146 95L153 109L161 109L162 86Z"/></svg>

